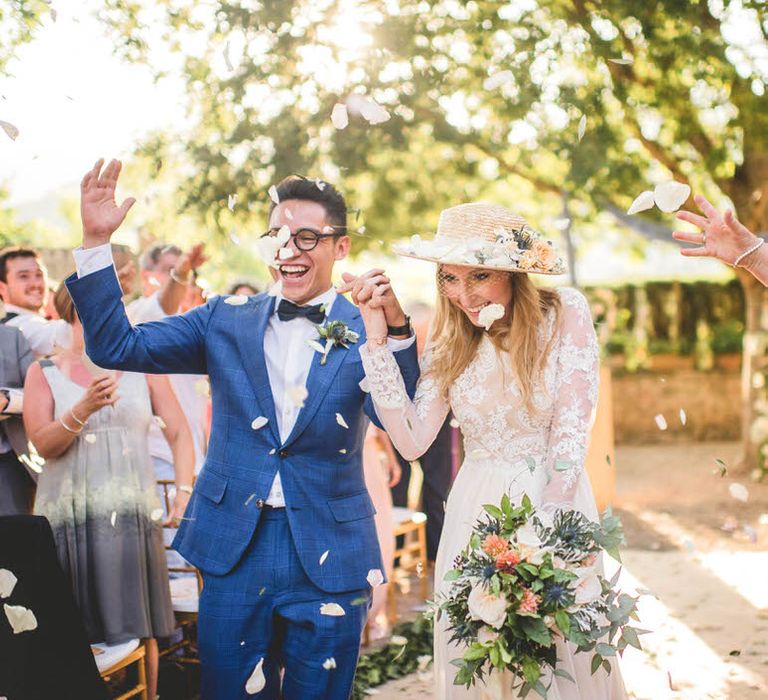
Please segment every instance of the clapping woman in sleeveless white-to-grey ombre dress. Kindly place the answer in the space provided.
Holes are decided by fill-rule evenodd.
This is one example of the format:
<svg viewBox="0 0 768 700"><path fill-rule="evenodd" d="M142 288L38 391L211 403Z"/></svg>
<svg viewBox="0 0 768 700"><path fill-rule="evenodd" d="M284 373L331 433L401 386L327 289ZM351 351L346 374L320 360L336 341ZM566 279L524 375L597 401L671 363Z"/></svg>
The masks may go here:
<svg viewBox="0 0 768 700"><path fill-rule="evenodd" d="M24 424L46 462L35 513L51 523L91 642L147 640L149 697L157 689L157 637L175 628L147 431L153 415L171 445L180 518L192 490L189 428L166 377L97 368L64 285L55 296L73 344L33 364Z"/></svg>

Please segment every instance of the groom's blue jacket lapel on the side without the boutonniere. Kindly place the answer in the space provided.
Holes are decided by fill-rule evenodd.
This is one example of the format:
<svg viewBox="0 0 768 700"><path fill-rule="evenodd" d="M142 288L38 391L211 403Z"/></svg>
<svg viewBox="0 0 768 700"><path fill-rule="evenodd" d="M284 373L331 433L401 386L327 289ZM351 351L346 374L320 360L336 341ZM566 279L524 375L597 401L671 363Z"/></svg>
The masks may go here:
<svg viewBox="0 0 768 700"><path fill-rule="evenodd" d="M274 308L275 297L273 296L264 296L255 304L244 304L236 307L237 328L235 333L243 366L253 385L261 415L269 421L269 429L275 439L280 442L275 400L272 397L267 364L264 360L264 333ZM253 418L257 418L257 416L253 416Z"/></svg>

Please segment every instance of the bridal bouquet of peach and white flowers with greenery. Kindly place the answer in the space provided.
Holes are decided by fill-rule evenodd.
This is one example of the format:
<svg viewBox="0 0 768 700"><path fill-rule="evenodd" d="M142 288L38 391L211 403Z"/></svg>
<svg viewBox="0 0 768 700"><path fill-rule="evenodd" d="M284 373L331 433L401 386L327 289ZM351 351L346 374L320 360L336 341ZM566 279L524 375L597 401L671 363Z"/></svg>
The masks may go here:
<svg viewBox="0 0 768 700"><path fill-rule="evenodd" d="M602 550L618 559L621 523L607 512L602 524L578 511L554 516L534 509L528 496L515 507L508 496L486 514L466 549L446 574L447 595L437 601L437 616L446 614L451 641L466 646L454 683L469 687L492 669L507 669L521 697L531 690L546 698L547 668L558 668L555 642L572 642L591 652L592 673L610 672L609 657L627 645L640 648L643 630L637 599L615 589L618 574L606 580L597 569Z"/></svg>

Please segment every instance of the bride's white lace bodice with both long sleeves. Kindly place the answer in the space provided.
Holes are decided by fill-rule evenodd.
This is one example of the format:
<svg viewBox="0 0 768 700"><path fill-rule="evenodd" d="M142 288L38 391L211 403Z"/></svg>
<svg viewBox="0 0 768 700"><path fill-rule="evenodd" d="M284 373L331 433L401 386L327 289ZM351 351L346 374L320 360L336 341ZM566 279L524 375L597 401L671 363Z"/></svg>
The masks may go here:
<svg viewBox="0 0 768 700"><path fill-rule="evenodd" d="M440 395L430 374L427 350L412 402L386 346L361 348L376 412L403 457L417 459L427 450L450 409L461 427L467 459L545 469L545 499L570 502L584 468L597 401L599 354L586 299L574 289L559 294L559 327L552 327L550 317L542 332L542 343L547 334L556 336L535 387L532 411L522 399L509 355L498 351L488 336L448 397Z"/></svg>

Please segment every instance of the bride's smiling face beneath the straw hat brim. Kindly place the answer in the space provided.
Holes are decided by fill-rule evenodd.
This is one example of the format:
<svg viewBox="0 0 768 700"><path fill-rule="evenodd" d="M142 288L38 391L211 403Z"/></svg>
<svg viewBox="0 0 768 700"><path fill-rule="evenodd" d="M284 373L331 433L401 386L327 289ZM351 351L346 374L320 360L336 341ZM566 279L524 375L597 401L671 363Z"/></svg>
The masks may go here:
<svg viewBox="0 0 768 700"><path fill-rule="evenodd" d="M440 265L437 286L473 325L482 327L480 312L490 304L501 304L505 309L504 319L509 317L512 308L510 274L479 267Z"/></svg>

